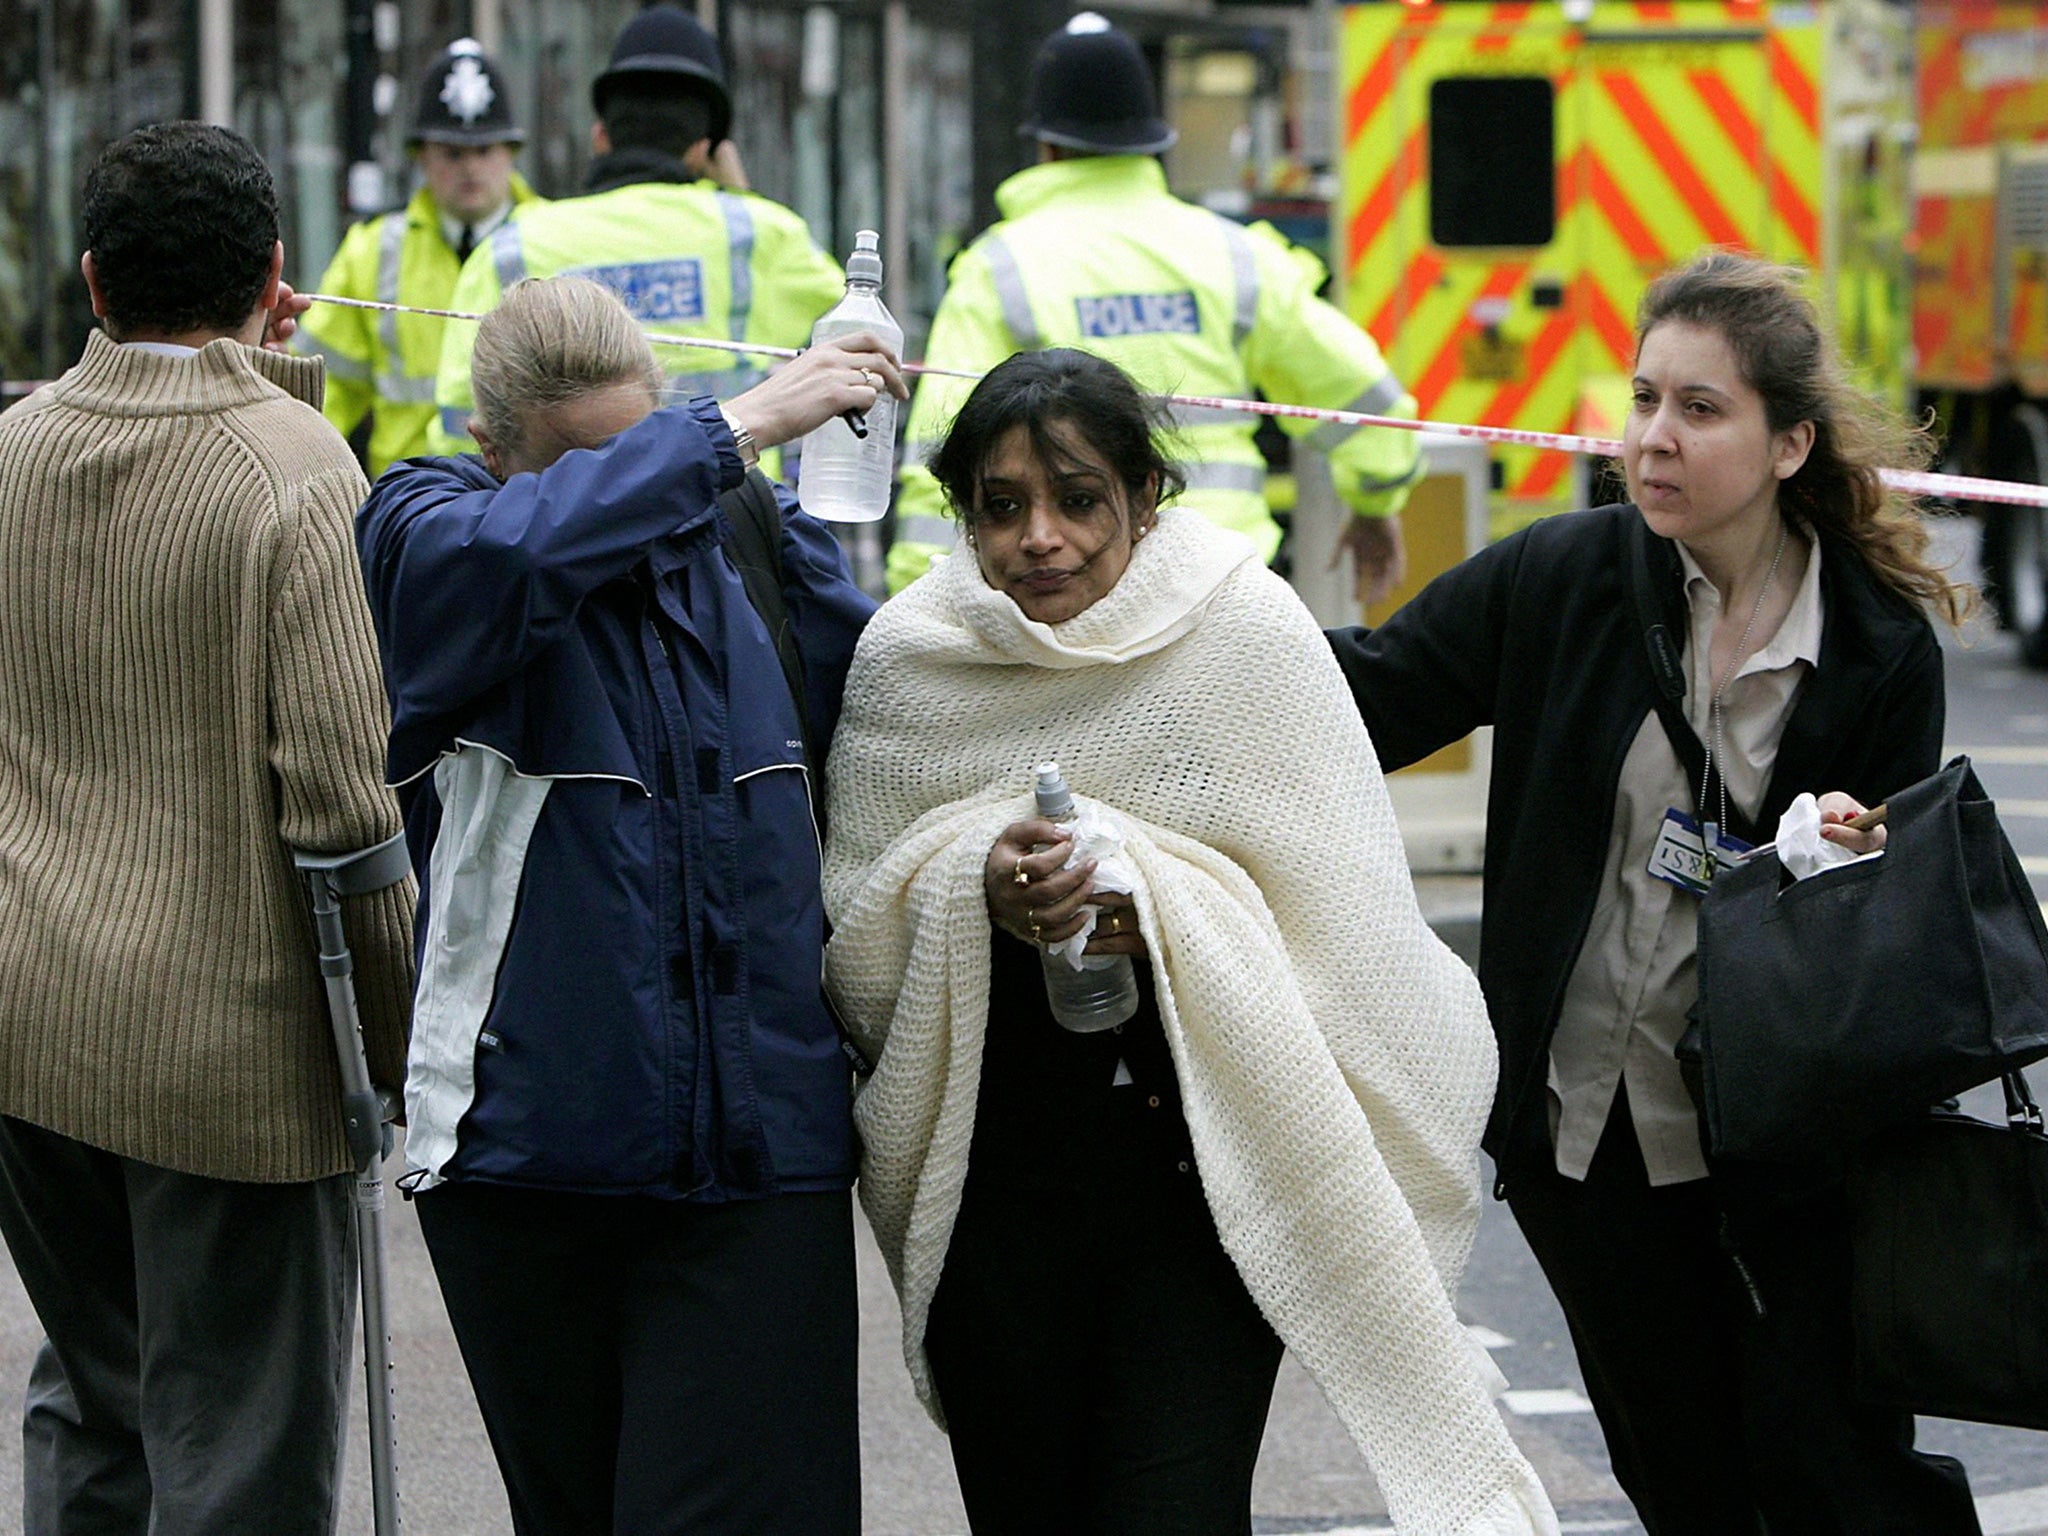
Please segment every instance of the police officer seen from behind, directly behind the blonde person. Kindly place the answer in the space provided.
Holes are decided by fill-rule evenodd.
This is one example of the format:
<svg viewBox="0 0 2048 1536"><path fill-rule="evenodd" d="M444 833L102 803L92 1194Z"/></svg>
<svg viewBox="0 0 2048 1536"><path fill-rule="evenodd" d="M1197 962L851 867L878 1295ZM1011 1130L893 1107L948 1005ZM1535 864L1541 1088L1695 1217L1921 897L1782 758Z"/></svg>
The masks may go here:
<svg viewBox="0 0 2048 1536"><path fill-rule="evenodd" d="M727 135L725 59L696 16L641 10L590 88L598 111L582 197L522 207L471 256L455 309L483 311L522 276L575 272L602 283L641 326L803 346L846 276L805 221L743 190ZM475 326L449 326L434 389L434 453L469 451L469 350ZM758 360L655 348L672 399L731 399L762 381Z"/></svg>

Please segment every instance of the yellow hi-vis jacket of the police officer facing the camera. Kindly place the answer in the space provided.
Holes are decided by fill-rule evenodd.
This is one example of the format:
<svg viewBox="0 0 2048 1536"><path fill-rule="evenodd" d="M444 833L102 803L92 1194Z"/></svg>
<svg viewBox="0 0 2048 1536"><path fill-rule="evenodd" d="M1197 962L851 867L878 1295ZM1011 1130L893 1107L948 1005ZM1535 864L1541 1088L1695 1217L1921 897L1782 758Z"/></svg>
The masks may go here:
<svg viewBox="0 0 2048 1536"><path fill-rule="evenodd" d="M539 195L512 178L512 205L539 203ZM424 186L412 201L342 236L319 293L342 299L410 303L449 309L463 264L440 227L440 209ZM322 408L342 436L371 422L371 479L399 459L428 453L434 424L434 373L440 369L440 332L459 324L428 315L393 315L315 303L293 334L293 350L328 365Z"/></svg>

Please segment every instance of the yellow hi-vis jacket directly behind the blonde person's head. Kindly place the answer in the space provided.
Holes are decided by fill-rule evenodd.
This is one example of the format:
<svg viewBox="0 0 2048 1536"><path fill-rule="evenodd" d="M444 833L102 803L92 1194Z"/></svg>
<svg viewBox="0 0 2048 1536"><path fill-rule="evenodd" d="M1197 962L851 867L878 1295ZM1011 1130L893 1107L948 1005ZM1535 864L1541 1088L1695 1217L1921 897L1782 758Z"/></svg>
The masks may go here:
<svg viewBox="0 0 2048 1536"><path fill-rule="evenodd" d="M575 272L616 293L653 334L805 346L846 293L846 274L780 203L715 182L629 182L522 207L479 246L455 309L492 309L522 276ZM449 326L434 403L436 453L467 453L475 326ZM670 397L731 399L766 377L766 358L655 346Z"/></svg>

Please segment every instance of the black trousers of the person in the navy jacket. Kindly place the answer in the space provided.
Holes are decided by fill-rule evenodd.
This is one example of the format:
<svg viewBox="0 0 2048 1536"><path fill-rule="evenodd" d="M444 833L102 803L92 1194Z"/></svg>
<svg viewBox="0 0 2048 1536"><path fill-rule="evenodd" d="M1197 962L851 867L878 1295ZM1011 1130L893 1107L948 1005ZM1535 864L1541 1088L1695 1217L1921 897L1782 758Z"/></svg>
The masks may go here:
<svg viewBox="0 0 2048 1536"><path fill-rule="evenodd" d="M418 1210L520 1536L860 1536L844 1190Z"/></svg>

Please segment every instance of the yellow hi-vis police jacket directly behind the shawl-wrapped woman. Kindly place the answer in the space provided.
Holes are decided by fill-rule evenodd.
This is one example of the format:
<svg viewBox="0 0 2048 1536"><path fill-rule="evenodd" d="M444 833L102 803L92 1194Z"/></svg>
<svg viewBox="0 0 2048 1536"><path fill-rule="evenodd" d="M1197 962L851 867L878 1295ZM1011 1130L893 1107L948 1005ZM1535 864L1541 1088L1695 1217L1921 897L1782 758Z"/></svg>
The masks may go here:
<svg viewBox="0 0 2048 1536"><path fill-rule="evenodd" d="M1239 225L1165 190L1149 156L1087 156L1022 170L995 188L1004 221L963 250L932 317L924 360L985 373L1012 352L1077 346L1141 389L1413 416L1380 348L1315 297L1323 266L1270 225ZM952 545L924 467L973 389L924 375L903 436L889 586L901 590ZM1178 408L1165 444L1188 473L1186 504L1249 535L1266 559L1280 528L1266 506L1255 416ZM1393 516L1421 477L1413 432L1280 420L1329 455L1337 496Z"/></svg>

